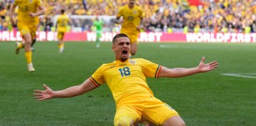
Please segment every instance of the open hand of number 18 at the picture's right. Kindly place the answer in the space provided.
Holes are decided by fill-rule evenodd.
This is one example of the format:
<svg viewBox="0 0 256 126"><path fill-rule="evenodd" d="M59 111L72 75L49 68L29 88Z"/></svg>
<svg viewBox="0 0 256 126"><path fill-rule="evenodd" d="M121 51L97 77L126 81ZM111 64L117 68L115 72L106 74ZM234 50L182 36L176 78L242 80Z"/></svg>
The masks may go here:
<svg viewBox="0 0 256 126"><path fill-rule="evenodd" d="M216 69L218 65L219 63L217 61L212 61L205 64L205 57L202 57L198 65L198 69L199 69L199 72L209 72L209 71L212 71L213 69Z"/></svg>

